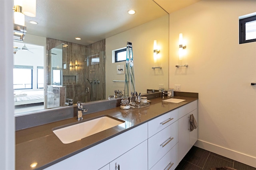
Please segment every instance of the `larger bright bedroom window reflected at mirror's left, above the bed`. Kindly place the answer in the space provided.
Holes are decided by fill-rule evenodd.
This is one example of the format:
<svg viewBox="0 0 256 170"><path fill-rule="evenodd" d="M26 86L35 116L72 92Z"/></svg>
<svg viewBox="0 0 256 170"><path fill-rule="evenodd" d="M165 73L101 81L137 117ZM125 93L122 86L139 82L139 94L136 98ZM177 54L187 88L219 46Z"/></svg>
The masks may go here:
<svg viewBox="0 0 256 170"><path fill-rule="evenodd" d="M32 89L33 87L33 66L14 65L13 88Z"/></svg>

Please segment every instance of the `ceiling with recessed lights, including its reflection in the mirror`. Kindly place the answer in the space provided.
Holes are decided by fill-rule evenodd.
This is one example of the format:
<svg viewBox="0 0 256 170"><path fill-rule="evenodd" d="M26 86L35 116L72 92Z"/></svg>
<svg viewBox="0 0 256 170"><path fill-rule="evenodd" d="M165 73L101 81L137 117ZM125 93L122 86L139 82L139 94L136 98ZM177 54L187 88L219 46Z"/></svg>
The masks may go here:
<svg viewBox="0 0 256 170"><path fill-rule="evenodd" d="M36 17L25 16L25 25L31 35L89 45L198 1L37 0ZM136 10L136 14L129 15L130 9ZM33 25L30 20L38 24Z"/></svg>

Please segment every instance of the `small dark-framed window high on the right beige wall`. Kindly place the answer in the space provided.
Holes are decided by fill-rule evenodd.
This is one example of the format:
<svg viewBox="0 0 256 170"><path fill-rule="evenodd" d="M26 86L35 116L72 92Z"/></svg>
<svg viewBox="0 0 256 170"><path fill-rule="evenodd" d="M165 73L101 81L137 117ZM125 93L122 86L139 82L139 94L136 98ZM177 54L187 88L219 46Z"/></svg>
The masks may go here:
<svg viewBox="0 0 256 170"><path fill-rule="evenodd" d="M239 44L256 41L256 16L239 20Z"/></svg>

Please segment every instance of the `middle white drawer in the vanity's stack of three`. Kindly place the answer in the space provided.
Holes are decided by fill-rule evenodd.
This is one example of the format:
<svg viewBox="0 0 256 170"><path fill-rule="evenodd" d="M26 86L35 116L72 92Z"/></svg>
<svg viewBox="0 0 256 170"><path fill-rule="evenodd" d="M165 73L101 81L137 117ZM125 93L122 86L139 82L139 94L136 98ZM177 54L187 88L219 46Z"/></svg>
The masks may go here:
<svg viewBox="0 0 256 170"><path fill-rule="evenodd" d="M148 139L148 168L152 168L178 143L178 121Z"/></svg>

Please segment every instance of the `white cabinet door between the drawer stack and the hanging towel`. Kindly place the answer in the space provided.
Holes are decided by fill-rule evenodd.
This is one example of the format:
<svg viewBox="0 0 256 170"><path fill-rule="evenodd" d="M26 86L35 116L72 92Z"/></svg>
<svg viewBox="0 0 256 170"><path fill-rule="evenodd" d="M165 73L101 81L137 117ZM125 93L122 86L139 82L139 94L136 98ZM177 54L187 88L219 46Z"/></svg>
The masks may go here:
<svg viewBox="0 0 256 170"><path fill-rule="evenodd" d="M178 120L179 128L179 152L178 161L180 162L182 158L188 153L189 150L189 114L184 115Z"/></svg>

